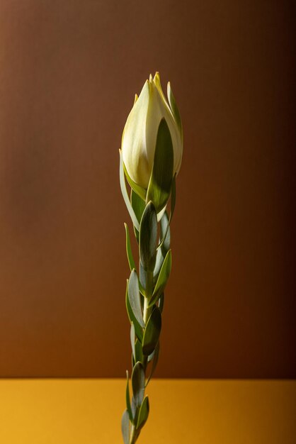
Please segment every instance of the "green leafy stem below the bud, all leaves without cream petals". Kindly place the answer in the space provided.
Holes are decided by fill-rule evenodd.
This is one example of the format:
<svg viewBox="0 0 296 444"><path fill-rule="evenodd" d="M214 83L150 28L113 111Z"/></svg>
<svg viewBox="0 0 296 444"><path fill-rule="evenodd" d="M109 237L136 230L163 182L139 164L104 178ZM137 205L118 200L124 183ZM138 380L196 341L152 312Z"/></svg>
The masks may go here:
<svg viewBox="0 0 296 444"><path fill-rule="evenodd" d="M131 187L130 196L125 179ZM121 150L120 187L139 250L137 267L132 255L129 229L125 223L127 260L130 266L125 304L130 320L132 374L129 377L127 372L122 432L124 443L134 444L149 415L149 399L145 389L159 358L164 289L171 273L170 223L176 202L176 174L173 172L171 134L165 118L159 123L148 188L144 189L132 181L123 163Z"/></svg>

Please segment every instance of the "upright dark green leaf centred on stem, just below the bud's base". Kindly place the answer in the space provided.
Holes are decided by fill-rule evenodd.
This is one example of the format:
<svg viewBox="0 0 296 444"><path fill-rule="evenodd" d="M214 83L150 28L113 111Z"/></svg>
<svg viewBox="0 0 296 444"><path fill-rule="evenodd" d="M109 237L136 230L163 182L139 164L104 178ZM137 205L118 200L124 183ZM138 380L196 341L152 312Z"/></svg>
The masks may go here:
<svg viewBox="0 0 296 444"><path fill-rule="evenodd" d="M140 223L140 260L145 271L153 272L156 260L157 218L154 204L149 202Z"/></svg>

